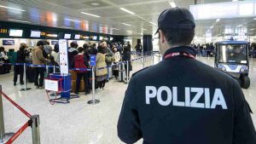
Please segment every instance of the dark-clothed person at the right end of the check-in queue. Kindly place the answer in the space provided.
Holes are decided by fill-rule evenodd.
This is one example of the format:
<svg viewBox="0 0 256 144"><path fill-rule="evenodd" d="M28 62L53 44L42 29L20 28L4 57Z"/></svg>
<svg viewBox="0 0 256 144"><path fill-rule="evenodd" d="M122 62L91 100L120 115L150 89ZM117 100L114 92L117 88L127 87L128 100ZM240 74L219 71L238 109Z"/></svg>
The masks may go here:
<svg viewBox="0 0 256 144"><path fill-rule="evenodd" d="M132 66L131 66L131 49L129 49L129 47L127 47L127 46L124 47L123 61L125 62L126 80L128 80L130 78L130 72L132 71ZM128 73L127 73L127 61L129 61L128 62Z"/></svg>

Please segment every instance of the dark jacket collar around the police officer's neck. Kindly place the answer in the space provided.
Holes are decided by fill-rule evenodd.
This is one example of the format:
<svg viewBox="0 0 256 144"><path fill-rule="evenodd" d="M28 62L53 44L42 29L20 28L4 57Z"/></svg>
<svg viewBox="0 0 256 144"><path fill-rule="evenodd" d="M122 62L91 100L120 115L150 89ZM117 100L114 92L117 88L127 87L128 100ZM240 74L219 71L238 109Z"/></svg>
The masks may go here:
<svg viewBox="0 0 256 144"><path fill-rule="evenodd" d="M189 46L178 46L174 47L172 49L168 49L164 55L164 57L170 53L186 53L188 55L196 55L197 51L196 49L189 47Z"/></svg>

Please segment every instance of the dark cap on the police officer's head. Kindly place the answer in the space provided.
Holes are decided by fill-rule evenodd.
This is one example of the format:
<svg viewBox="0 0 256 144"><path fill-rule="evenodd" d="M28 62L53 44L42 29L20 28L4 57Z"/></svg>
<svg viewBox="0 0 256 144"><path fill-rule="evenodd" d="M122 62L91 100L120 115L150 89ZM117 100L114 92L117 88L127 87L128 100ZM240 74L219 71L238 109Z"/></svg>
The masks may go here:
<svg viewBox="0 0 256 144"><path fill-rule="evenodd" d="M158 18L158 29L195 29L194 16L185 8L172 8L163 11Z"/></svg>

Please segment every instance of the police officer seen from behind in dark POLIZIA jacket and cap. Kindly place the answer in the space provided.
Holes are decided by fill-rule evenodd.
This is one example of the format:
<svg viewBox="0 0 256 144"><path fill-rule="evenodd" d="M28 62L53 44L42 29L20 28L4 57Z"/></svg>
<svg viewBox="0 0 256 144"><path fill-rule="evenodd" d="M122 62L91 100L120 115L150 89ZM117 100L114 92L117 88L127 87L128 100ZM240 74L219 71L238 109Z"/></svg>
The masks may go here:
<svg viewBox="0 0 256 144"><path fill-rule="evenodd" d="M125 143L255 144L240 85L195 60L195 20L188 9L158 19L162 61L137 72L125 92L118 135Z"/></svg>

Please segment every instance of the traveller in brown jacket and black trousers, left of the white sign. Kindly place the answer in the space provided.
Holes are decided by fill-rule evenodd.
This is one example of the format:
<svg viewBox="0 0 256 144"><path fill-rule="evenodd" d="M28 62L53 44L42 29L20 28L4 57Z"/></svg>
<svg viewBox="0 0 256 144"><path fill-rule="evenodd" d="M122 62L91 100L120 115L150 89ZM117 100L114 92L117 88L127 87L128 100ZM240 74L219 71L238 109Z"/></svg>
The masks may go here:
<svg viewBox="0 0 256 144"><path fill-rule="evenodd" d="M44 50L44 42L38 41L37 47L32 49L32 64L33 65L44 65L47 60L44 58L43 55ZM38 82L38 76L39 82ZM35 79L34 83L37 89L44 89L44 68L43 67L35 67Z"/></svg>

